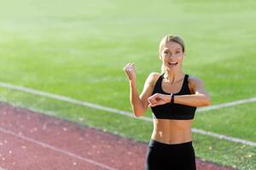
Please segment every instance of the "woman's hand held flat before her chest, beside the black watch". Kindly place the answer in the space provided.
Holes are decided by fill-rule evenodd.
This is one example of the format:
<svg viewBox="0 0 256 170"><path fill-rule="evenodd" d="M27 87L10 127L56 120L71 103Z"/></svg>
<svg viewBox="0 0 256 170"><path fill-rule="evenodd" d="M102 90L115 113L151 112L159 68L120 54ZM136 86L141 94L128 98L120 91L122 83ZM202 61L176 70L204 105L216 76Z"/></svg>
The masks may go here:
<svg viewBox="0 0 256 170"><path fill-rule="evenodd" d="M171 95L166 94L154 94L148 98L148 107L154 107L156 105L165 105L171 101Z"/></svg>

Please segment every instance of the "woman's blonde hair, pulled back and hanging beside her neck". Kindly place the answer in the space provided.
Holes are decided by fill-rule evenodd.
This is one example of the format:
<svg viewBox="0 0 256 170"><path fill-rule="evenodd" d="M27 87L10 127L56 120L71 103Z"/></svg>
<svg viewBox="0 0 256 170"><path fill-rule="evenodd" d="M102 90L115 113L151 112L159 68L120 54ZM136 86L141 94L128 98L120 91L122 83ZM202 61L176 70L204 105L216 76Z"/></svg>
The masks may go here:
<svg viewBox="0 0 256 170"><path fill-rule="evenodd" d="M185 52L185 43L183 42L183 38L179 37L179 36L175 36L175 35L166 35L165 37L162 38L162 40L160 41L160 45L159 45L159 56L161 55L161 51L163 46L167 43L167 42L177 42L178 44L180 44L183 48L183 53ZM161 66L161 73L166 73L167 74L167 70L166 70L166 66L162 65ZM165 77L167 78L167 77ZM168 79L168 78L167 78Z"/></svg>

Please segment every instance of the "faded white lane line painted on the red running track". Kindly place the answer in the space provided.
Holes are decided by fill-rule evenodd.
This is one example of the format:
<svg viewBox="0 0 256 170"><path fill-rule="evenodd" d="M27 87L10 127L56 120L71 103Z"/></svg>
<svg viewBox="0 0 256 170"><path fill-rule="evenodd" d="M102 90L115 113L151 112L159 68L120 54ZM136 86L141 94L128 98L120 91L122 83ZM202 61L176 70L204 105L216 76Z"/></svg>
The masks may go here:
<svg viewBox="0 0 256 170"><path fill-rule="evenodd" d="M81 160L81 161L87 161L87 162L92 163L92 164L94 164L94 165L96 165L96 166L98 166L98 167L103 167L103 168L108 169L108 170L118 170L118 169L113 168L113 167L108 167L107 165L104 165L104 164L102 164L102 163L100 163L100 162L93 161L93 160L91 160L91 159L89 159L89 158L75 155L75 154L73 154L73 153L71 153L71 152L69 152L69 151L67 151L67 150L61 150L61 149L56 148L56 147L54 147L54 146L52 146L52 145L45 144L45 143L43 143L43 142L41 142L41 141L38 141L38 140L36 140L36 139L31 139L31 138L27 138L26 136L23 136L23 135L20 135L20 134L16 134L16 133L14 133L14 132L11 132L11 131L9 131L9 130L4 129L3 127L0 127L0 131L3 132L3 133L8 133L8 134L10 134L10 135L13 135L13 136L15 136L15 137L17 137L17 138L26 140L26 141L31 142L31 143L33 143L33 144L38 144L38 145L40 145L40 146L43 146L44 148L48 148L48 149L50 149L50 150L54 150L54 151L56 151L56 152L60 152L60 153L62 153L62 154L64 154L64 155L72 156L72 157L77 158L77 159L79 159L79 160ZM1 170L1 169L0 169L0 170Z"/></svg>

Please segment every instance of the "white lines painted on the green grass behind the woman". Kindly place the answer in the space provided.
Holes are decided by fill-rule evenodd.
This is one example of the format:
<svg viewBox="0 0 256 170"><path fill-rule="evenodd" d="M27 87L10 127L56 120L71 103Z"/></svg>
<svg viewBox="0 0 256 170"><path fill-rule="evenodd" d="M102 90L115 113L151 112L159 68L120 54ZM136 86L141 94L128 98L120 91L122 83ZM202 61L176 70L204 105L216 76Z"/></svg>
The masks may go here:
<svg viewBox="0 0 256 170"><path fill-rule="evenodd" d="M117 114L120 114L120 115L131 116L132 118L136 118L135 116L133 116L133 113L131 113L129 111L120 111L120 110L109 108L109 107L106 107L106 106L96 105L96 104L93 104L93 103L90 103L90 102L81 101L79 99L68 98L66 96L62 96L62 95L59 95L59 94L50 94L50 93L35 90L35 89L32 89L32 88L25 88L25 87L22 87L22 86L16 86L16 85L9 84L9 83L6 83L6 82L0 82L0 87L15 89L15 90L18 90L18 91L26 92L28 94L36 94L36 95L44 96L44 97L47 97L47 98L66 101L68 103L73 103L75 105L83 105L83 106L90 107L90 108L93 108L93 109L96 109L96 110L108 111L108 112L111 112L111 113L117 113ZM229 103L202 107L202 108L199 108L197 110L197 112L210 111L210 110L215 110L215 109L219 109L219 108L230 107L232 105L241 105L241 104L245 104L245 103L252 103L252 102L255 102L255 101L256 101L256 97L250 98L250 99L241 99L241 100L236 100L236 101L229 102ZM153 122L152 118L145 117L145 116L138 117L138 119L142 119L143 121L147 121L147 122ZM212 133L212 132L205 131L205 130L198 129L198 128L192 128L192 132L193 133L200 133L202 135L207 135L207 136L211 136L211 137L218 138L218 139L224 139L224 140L239 143L239 144L247 144L247 145L251 145L251 146L256 146L256 142L253 142L253 141L249 141L249 140L245 140L245 139L238 139L238 138L230 137L230 136L227 136L227 135L224 135L224 134L219 134L219 133Z"/></svg>

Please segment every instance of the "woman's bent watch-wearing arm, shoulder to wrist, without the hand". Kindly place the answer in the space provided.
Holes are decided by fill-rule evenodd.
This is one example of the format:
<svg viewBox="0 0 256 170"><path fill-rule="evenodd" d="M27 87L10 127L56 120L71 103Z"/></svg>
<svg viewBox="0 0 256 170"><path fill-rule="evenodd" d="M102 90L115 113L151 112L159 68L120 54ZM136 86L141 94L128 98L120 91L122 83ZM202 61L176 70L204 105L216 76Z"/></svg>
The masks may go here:
<svg viewBox="0 0 256 170"><path fill-rule="evenodd" d="M190 106L211 105L210 95L207 93L204 83L196 78L189 77L189 89L192 94L174 96L174 103Z"/></svg>

